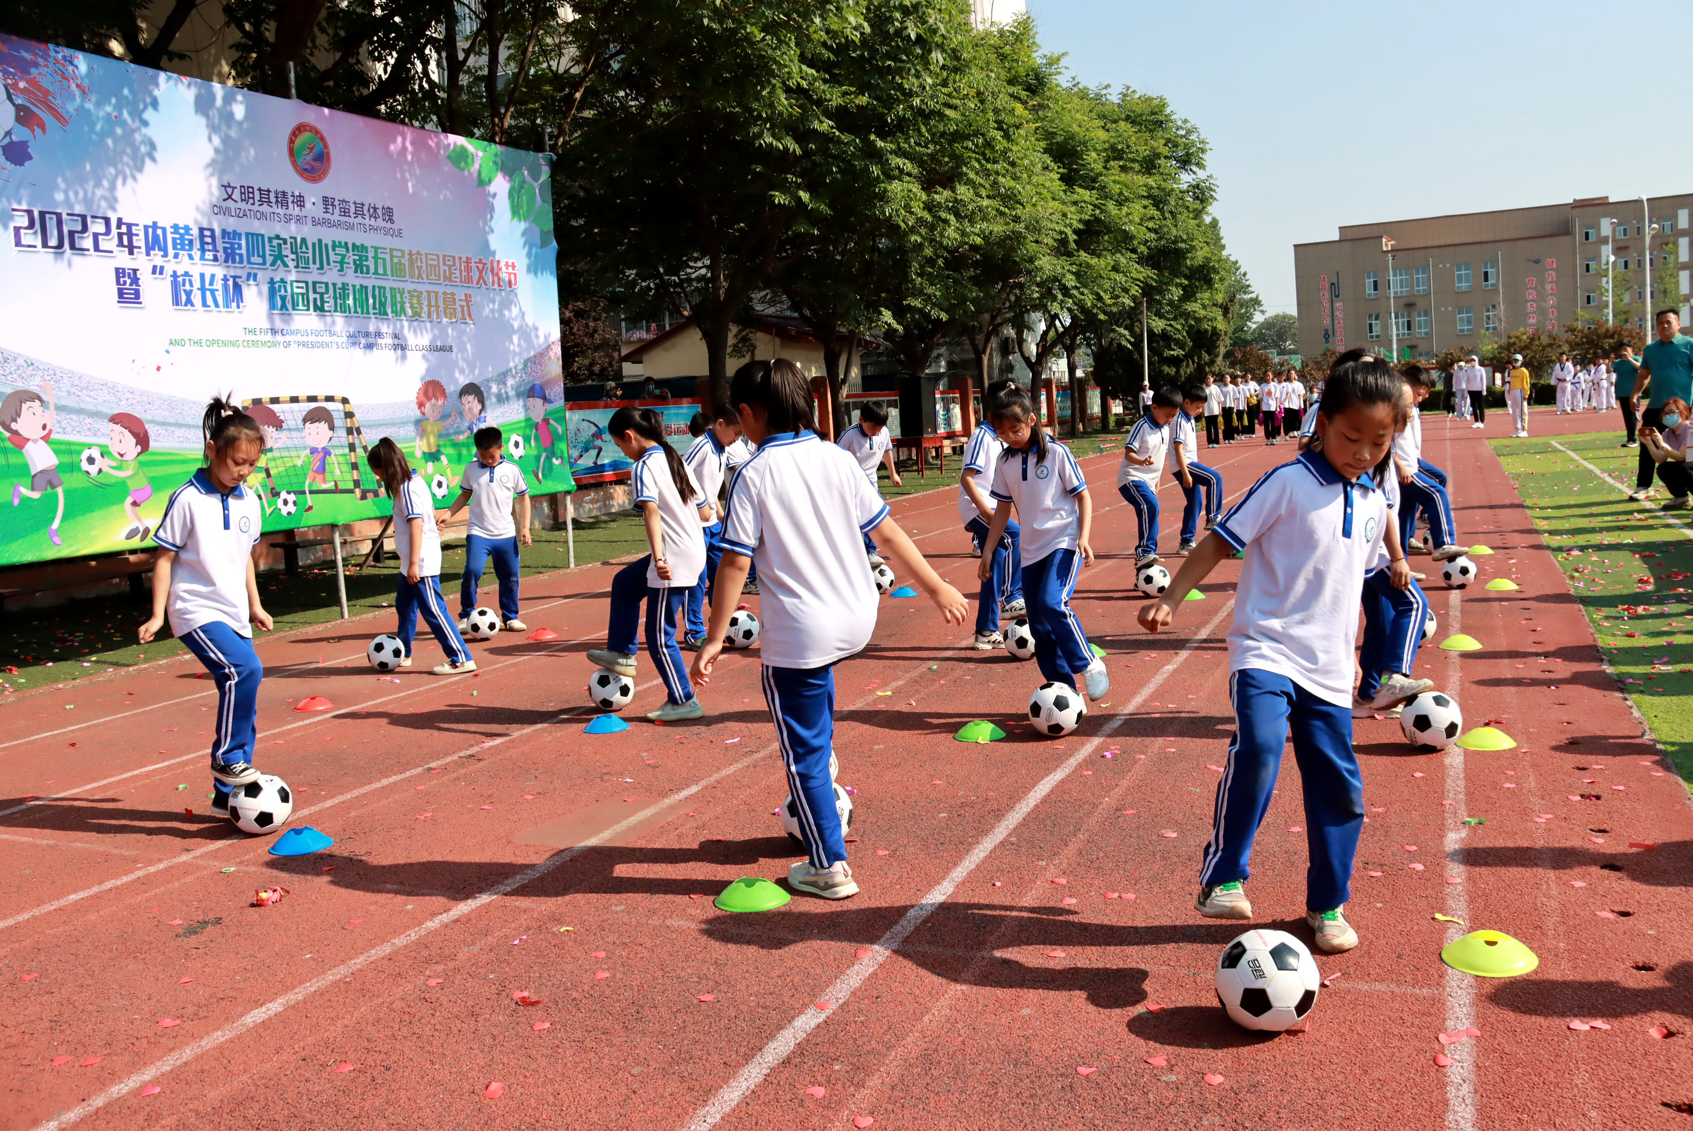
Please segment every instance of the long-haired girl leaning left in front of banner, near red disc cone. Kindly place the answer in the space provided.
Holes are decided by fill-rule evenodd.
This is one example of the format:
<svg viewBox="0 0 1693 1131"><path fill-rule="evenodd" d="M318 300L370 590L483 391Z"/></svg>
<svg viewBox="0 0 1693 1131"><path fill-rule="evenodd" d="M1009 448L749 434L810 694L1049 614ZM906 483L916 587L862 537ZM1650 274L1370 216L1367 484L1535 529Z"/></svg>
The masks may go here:
<svg viewBox="0 0 1693 1131"><path fill-rule="evenodd" d="M394 557L400 559L394 611L400 613L400 642L406 647L400 667L411 667L411 640L418 632L418 616L423 616L447 655L433 672L437 676L474 672L476 660L464 647L459 625L447 613L447 599L440 594L440 528L435 527L435 499L428 493L428 484L406 462L400 445L388 437L376 442L366 462L388 488L388 498L394 501Z"/></svg>

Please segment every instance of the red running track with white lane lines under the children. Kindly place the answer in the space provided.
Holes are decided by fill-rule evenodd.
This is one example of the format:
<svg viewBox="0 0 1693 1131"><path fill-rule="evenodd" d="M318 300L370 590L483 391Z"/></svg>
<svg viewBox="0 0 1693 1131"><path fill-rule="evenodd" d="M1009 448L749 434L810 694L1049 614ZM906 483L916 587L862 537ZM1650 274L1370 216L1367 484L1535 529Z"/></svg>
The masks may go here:
<svg viewBox="0 0 1693 1131"><path fill-rule="evenodd" d="M362 652L384 618L262 642L261 765L293 784L296 823L335 836L315 857L183 814L205 804L213 703L191 660L19 696L0 737L0 1128L1678 1126L1661 1102L1693 1099L1690 1038L1649 1029L1693 1006L1685 789L1480 433L1426 435L1466 538L1498 550L1483 577L1522 591L1431 584L1441 637L1486 648L1419 664L1520 747L1417 753L1397 723L1359 723L1363 945L1321 960L1310 1031L1226 1019L1210 970L1239 926L1192 911L1238 567L1173 633L1141 633L1134 518L1102 455L1084 461L1102 559L1077 608L1111 652L1106 704L1034 738L1017 726L1033 665L887 599L838 669L863 885L845 904L711 906L797 857L772 816L757 654L726 660L703 725L643 723L662 696L643 670L631 730L581 733L613 566L527 581L525 618L560 640L483 645L474 679L428 676L427 647L378 677ZM1292 454L1204 455L1238 498ZM1161 498L1172 545L1180 496ZM894 510L950 579L973 577L951 489ZM295 713L310 694L339 709ZM1011 738L951 740L982 716ZM1568 799L1583 792L1603 801ZM1251 894L1261 924L1309 936L1300 825L1283 791ZM274 884L281 904L247 906ZM1436 914L1522 938L1541 968L1449 972L1459 928ZM1481 1036L1437 1043L1468 1026Z"/></svg>

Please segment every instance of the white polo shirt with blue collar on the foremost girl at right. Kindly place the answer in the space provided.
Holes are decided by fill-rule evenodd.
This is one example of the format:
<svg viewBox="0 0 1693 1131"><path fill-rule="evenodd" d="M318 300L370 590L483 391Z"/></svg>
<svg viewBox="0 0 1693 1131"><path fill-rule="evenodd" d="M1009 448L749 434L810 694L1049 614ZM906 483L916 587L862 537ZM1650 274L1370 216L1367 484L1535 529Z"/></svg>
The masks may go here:
<svg viewBox="0 0 1693 1131"><path fill-rule="evenodd" d="M1359 596L1387 521L1387 499L1370 477L1348 483L1321 452L1265 472L1214 527L1246 552L1229 670L1278 672L1351 706Z"/></svg>

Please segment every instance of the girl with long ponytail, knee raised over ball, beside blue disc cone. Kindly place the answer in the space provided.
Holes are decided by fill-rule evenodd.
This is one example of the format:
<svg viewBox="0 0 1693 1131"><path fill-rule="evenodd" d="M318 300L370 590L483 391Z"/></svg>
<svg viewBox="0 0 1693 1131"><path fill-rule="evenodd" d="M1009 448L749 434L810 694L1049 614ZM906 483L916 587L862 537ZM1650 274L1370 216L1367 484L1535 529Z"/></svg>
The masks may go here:
<svg viewBox="0 0 1693 1131"><path fill-rule="evenodd" d="M676 643L676 626L686 611L687 594L699 584L699 574L706 569L703 525L714 516L713 501L699 489L687 464L664 439L664 420L653 410L625 405L611 413L606 432L611 433L611 442L635 461L630 489L635 494L635 510L647 525L647 545L652 552L638 562L630 562L611 579L606 647L593 648L587 659L620 676L635 676L635 632L642 618L640 603L645 598L647 655L652 657L659 679L669 692L664 706L648 711L647 718L655 723L699 718L706 709L699 706L694 686L687 682L687 665L682 664L682 648ZM740 593L740 586L730 593ZM735 601L720 604L735 610Z"/></svg>

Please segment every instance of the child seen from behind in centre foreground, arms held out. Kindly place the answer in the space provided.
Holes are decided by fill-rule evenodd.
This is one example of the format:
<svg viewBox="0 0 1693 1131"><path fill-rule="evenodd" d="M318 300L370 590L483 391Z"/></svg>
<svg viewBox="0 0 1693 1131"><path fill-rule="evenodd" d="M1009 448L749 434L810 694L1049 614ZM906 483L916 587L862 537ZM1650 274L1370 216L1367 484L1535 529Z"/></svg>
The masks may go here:
<svg viewBox="0 0 1693 1131"><path fill-rule="evenodd" d="M875 630L875 579L863 535L874 537L882 555L935 601L948 625L963 625L970 606L889 518L858 462L818 439L811 384L794 362L747 362L730 383L730 403L758 450L730 484L718 591L736 593L747 567L758 562L764 698L775 720L808 855L787 870L787 884L824 899L846 899L858 884L846 863L830 753L835 664L863 648ZM703 684L711 682L733 613L731 599L711 606L706 642L694 657L694 679Z"/></svg>

